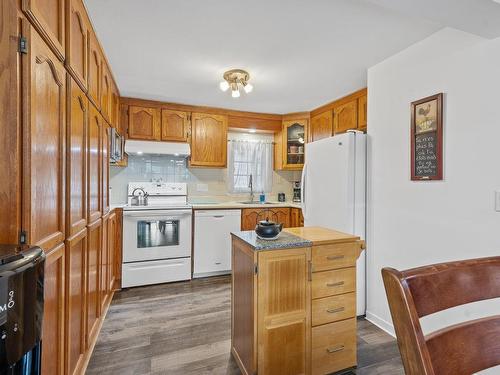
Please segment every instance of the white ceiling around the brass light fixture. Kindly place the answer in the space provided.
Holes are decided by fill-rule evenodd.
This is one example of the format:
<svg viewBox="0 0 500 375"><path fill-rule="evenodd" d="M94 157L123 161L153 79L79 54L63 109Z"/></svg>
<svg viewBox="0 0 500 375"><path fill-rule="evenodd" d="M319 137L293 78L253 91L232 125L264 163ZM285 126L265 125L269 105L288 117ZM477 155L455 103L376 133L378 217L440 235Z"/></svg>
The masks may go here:
<svg viewBox="0 0 500 375"><path fill-rule="evenodd" d="M437 2L85 0L123 96L270 113L310 110L366 86L368 67L447 25L444 8L427 17ZM484 26L467 21L469 31ZM230 68L250 72L251 94L219 90Z"/></svg>

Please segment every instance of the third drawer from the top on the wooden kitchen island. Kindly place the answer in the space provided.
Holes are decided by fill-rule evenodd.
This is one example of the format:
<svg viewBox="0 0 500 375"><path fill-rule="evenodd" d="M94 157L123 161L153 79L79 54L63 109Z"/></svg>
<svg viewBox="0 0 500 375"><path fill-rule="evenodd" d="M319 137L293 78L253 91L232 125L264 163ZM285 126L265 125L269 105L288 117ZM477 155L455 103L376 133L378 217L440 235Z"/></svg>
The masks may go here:
<svg viewBox="0 0 500 375"><path fill-rule="evenodd" d="M356 293L341 294L312 301L312 325L332 323L356 316Z"/></svg>

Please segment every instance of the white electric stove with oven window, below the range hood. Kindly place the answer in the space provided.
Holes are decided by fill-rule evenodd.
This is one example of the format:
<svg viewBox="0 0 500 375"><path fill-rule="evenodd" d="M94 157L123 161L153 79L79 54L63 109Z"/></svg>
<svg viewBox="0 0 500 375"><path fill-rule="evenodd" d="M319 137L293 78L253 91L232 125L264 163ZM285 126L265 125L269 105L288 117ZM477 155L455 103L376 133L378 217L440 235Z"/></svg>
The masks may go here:
<svg viewBox="0 0 500 375"><path fill-rule="evenodd" d="M132 193L148 204L132 205ZM123 208L122 287L191 279L192 209L187 184L131 182Z"/></svg>

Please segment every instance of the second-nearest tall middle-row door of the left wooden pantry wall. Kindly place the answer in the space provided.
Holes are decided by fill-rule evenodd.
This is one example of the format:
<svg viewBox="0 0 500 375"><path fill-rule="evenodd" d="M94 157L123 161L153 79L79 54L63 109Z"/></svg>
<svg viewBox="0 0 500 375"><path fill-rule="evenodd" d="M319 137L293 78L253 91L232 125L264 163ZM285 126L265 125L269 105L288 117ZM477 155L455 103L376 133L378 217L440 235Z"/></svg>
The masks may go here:
<svg viewBox="0 0 500 375"><path fill-rule="evenodd" d="M68 121L66 155L67 236L71 237L87 225L87 120L88 99L68 75Z"/></svg>

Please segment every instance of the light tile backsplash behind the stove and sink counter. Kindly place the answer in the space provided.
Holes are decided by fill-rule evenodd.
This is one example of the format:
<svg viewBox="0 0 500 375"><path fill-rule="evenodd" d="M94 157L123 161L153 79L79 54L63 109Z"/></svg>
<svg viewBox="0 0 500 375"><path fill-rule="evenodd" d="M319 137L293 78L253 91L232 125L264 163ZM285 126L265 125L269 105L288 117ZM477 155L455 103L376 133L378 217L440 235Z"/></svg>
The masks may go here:
<svg viewBox="0 0 500 375"><path fill-rule="evenodd" d="M269 200L277 200L278 193L292 199L292 182L300 180L301 172L274 171L273 190ZM188 168L187 160L170 155L129 155L127 167L110 167L110 200L112 204L127 201L130 181L186 182L191 201L207 199L232 201L247 198L248 194L227 192L227 169Z"/></svg>

